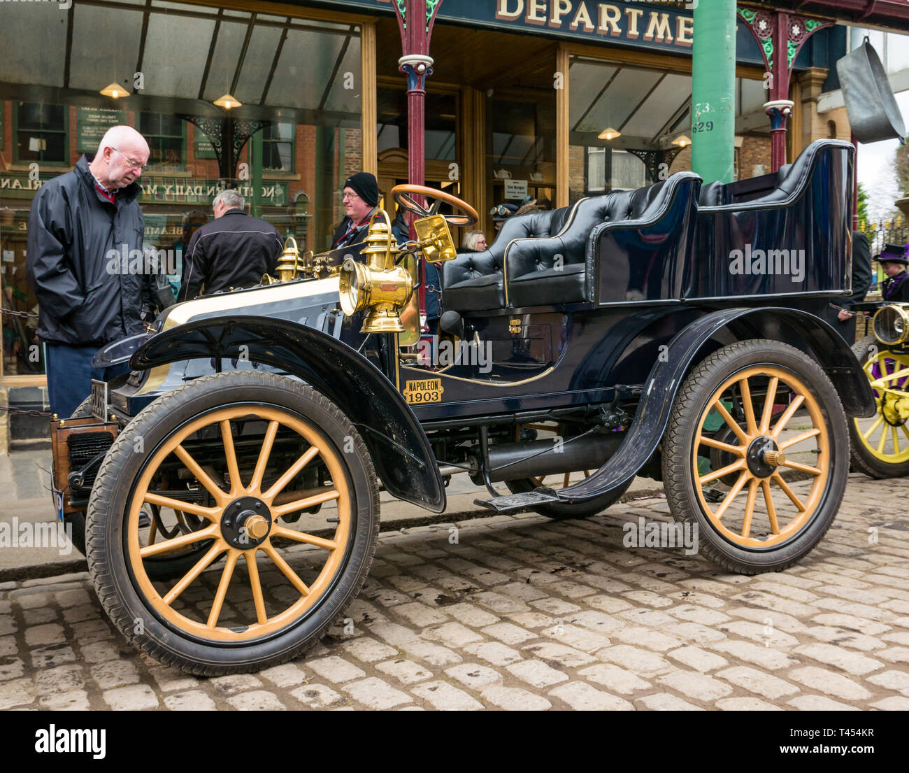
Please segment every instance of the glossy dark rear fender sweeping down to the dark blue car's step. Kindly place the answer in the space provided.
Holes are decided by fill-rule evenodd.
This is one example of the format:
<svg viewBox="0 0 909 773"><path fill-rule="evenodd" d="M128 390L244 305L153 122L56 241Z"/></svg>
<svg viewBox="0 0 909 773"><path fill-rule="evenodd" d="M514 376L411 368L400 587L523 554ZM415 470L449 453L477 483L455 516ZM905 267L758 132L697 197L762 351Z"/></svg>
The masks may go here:
<svg viewBox="0 0 909 773"><path fill-rule="evenodd" d="M663 438L675 396L704 344L724 327L734 330L736 323L785 342L774 320L783 320L802 336L833 382L847 414L874 416L876 405L867 377L844 338L823 319L793 308L724 309L700 317L670 341L667 356L657 360L647 376L624 443L603 467L574 486L536 490L564 502L586 502L623 487L644 467Z"/></svg>

